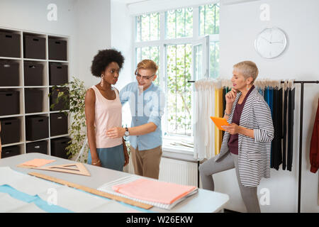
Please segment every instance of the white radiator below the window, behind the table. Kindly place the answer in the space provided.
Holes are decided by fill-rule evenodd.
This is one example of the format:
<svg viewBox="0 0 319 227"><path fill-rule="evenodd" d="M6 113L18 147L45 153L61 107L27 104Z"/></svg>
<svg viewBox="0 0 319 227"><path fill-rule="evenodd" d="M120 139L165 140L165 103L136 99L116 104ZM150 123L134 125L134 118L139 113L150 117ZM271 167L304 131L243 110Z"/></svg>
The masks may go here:
<svg viewBox="0 0 319 227"><path fill-rule="evenodd" d="M124 171L134 174L131 159ZM162 157L159 165L159 180L197 187L197 163Z"/></svg>

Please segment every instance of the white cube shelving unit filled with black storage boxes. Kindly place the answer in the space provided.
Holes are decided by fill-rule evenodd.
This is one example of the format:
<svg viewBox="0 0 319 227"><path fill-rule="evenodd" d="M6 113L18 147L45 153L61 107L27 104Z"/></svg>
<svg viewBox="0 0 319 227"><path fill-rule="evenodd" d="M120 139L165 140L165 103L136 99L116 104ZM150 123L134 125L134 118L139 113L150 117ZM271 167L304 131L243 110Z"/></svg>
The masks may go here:
<svg viewBox="0 0 319 227"><path fill-rule="evenodd" d="M6 48L3 48L4 46ZM16 154L18 150L18 154L23 154L33 145L43 148L43 145L46 144L46 153L50 155L51 140L69 136L68 131L65 133L65 128L61 131L52 128L55 133L50 134L50 117L57 116L60 110L50 110L48 96L53 85L69 82L68 49L69 38L65 35L0 27L0 106L13 110L4 111L4 108L1 107L3 113L1 114L0 109L0 122L12 118L17 118L20 122L16 131L19 133L20 141L3 144L2 147L5 150L9 150L12 154ZM5 65L5 67L1 68L1 65ZM57 71L61 70L63 73L50 74L50 66L52 65L61 67L57 68ZM9 69L9 67L11 68ZM32 93L34 94L30 96ZM30 100L26 101L26 99ZM35 103L40 104L42 108L29 111L29 106L26 105ZM68 114L67 125L69 126L69 110L63 110L63 112ZM27 121L38 116L47 118L47 128L43 132L45 138L27 140ZM65 119L64 122L66 122ZM28 130L30 133L30 128ZM62 135L59 135L57 131Z"/></svg>

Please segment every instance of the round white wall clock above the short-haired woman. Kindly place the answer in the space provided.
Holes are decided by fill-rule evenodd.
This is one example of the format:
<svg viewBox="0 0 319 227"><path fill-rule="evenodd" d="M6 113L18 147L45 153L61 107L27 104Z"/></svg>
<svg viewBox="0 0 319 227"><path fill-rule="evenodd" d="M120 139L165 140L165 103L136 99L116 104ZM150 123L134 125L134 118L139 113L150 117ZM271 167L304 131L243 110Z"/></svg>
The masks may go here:
<svg viewBox="0 0 319 227"><path fill-rule="evenodd" d="M284 52L286 45L286 34L279 28L266 28L254 40L254 48L265 58L278 57Z"/></svg>

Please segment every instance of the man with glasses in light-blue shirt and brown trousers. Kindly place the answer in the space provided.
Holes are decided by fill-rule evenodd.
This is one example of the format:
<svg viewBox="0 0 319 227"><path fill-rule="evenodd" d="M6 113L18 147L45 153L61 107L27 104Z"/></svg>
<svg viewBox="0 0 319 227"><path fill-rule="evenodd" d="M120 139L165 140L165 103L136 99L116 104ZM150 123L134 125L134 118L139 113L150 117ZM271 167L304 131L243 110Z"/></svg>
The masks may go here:
<svg viewBox="0 0 319 227"><path fill-rule="evenodd" d="M158 66L152 60L142 60L135 70L136 82L127 84L120 92L122 105L129 101L132 122L130 128L111 128L111 138L130 136L130 151L136 175L159 177L162 157L162 115L165 98L153 81Z"/></svg>

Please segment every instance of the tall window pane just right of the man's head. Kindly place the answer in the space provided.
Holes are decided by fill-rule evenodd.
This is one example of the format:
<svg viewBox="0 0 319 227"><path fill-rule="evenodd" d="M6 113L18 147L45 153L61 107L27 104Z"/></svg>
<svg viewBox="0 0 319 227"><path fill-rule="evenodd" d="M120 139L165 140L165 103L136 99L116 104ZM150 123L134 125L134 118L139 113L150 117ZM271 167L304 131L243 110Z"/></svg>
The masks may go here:
<svg viewBox="0 0 319 227"><path fill-rule="evenodd" d="M191 45L167 46L167 133L191 135Z"/></svg>

